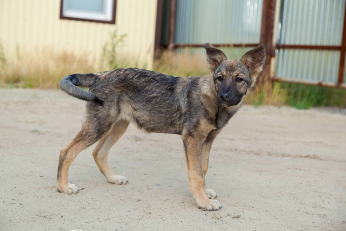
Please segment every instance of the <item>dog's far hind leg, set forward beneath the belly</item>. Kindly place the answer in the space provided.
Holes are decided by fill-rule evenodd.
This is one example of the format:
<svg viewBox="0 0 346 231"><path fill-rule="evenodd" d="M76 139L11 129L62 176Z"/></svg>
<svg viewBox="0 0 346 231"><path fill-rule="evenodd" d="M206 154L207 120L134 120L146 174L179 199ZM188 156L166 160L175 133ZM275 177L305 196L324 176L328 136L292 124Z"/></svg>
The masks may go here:
<svg viewBox="0 0 346 231"><path fill-rule="evenodd" d="M119 138L125 133L129 125L128 121L121 120L114 124L112 130L108 135L104 136L96 148L93 150L92 155L95 159L97 166L99 167L102 174L107 177L108 182L111 184L126 184L128 180L123 177L116 175L110 169L107 158L110 148L119 140Z"/></svg>

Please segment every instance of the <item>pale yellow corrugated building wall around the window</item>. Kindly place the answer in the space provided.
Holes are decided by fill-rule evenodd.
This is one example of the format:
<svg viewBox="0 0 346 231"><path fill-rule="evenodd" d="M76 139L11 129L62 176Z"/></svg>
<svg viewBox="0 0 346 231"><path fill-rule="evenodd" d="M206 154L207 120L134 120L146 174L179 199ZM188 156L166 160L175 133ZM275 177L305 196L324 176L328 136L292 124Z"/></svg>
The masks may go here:
<svg viewBox="0 0 346 231"><path fill-rule="evenodd" d="M60 0L0 0L0 43L7 57L16 47L26 51L54 47L100 57L109 33L127 34L126 59L151 69L157 0L117 0L116 24L60 19Z"/></svg>

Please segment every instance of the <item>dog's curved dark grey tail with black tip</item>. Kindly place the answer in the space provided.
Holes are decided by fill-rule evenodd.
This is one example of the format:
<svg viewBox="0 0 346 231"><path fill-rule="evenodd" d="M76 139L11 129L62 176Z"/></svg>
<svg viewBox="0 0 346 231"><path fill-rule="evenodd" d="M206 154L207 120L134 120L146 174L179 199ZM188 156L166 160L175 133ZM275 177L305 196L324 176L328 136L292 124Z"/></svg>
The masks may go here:
<svg viewBox="0 0 346 231"><path fill-rule="evenodd" d="M97 78L98 75L94 73L67 75L60 81L60 87L70 96L86 101L95 101L103 105L103 101L100 100L97 96L89 91L77 87L91 87L95 83Z"/></svg>

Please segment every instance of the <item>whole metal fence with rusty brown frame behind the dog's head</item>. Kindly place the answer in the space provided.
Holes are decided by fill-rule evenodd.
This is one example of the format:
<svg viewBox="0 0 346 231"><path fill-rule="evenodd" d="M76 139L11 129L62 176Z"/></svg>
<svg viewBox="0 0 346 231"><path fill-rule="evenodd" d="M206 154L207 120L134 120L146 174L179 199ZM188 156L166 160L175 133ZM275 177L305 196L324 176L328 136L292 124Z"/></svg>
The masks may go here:
<svg viewBox="0 0 346 231"><path fill-rule="evenodd" d="M161 44L243 51L265 43L273 80L345 87L345 7L346 0L164 0Z"/></svg>

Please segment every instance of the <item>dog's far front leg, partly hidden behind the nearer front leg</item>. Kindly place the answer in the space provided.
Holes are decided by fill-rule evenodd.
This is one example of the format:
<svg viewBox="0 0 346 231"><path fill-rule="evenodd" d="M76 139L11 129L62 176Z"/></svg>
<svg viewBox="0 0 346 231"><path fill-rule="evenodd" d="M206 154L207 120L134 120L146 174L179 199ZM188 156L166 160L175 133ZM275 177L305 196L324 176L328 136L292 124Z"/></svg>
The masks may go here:
<svg viewBox="0 0 346 231"><path fill-rule="evenodd" d="M209 199L215 199L217 198L216 193L214 190L207 188L206 186L206 174L208 171L209 166L209 153L211 149L211 145L216 137L216 135L220 132L220 130L212 130L206 139L204 141L204 144L202 146L202 166L203 166L203 175L204 175L204 182L203 182L203 190L209 197Z"/></svg>

